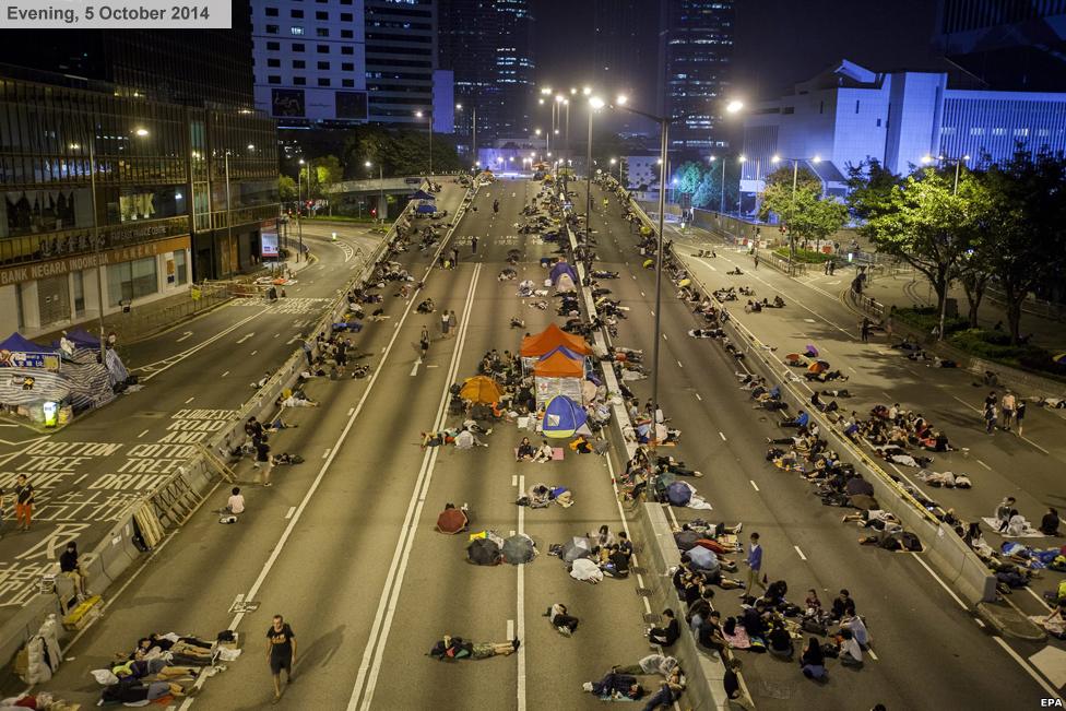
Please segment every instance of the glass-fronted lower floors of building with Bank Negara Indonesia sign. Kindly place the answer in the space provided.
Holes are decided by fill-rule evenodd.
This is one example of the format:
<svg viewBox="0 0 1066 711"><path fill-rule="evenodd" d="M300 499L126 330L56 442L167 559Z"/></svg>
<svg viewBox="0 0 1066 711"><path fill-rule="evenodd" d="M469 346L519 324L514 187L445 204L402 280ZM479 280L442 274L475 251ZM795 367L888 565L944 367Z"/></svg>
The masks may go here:
<svg viewBox="0 0 1066 711"><path fill-rule="evenodd" d="M70 84L76 84L71 86ZM44 333L258 262L273 121L0 71L0 329Z"/></svg>

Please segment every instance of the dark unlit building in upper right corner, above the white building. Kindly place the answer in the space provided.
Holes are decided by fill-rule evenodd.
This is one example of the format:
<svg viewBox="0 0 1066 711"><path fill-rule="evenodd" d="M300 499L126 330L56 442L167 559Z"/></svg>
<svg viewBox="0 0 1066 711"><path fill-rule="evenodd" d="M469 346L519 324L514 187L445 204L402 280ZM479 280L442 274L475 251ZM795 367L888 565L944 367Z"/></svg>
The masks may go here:
<svg viewBox="0 0 1066 711"><path fill-rule="evenodd" d="M1066 91L1066 0L938 0L934 47L1000 91Z"/></svg>

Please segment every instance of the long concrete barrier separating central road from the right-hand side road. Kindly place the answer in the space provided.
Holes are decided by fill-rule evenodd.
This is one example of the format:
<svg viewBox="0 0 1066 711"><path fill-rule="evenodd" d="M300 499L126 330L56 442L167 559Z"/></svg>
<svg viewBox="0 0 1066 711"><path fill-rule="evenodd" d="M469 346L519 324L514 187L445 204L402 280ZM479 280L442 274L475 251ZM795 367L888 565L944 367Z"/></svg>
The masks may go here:
<svg viewBox="0 0 1066 711"><path fill-rule="evenodd" d="M675 258L680 259L677 254ZM704 294L711 293L711 289L697 276L690 273L689 277ZM837 440L841 451L851 453L857 460L858 464L870 475L867 481L874 486L877 501L895 513L904 529L919 535L925 554L928 555L939 572L955 584L963 597L973 605L979 602L995 600L996 579L978 555L956 534L955 530L922 506L902 484L893 479L881 469L880 464L844 436L836 423L830 422L817 408L810 407L807 399L794 387L790 377L792 374L787 366L775 359L771 360L769 354L772 351L768 344L762 343L735 319L725 321L723 328L731 331L734 339L744 344L747 355L751 356L750 360L745 360L745 363L758 363L765 377L778 381L781 384L782 393L787 394L797 408L808 412L812 419L818 422L821 430Z"/></svg>

